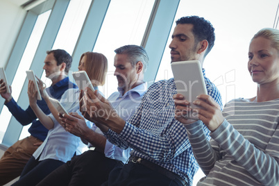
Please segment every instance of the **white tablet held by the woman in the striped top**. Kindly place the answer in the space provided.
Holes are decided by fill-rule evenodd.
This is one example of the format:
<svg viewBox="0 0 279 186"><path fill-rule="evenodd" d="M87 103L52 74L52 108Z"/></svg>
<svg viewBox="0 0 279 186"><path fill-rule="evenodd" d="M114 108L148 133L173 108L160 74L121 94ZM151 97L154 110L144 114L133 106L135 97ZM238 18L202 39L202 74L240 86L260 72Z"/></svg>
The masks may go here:
<svg viewBox="0 0 279 186"><path fill-rule="evenodd" d="M174 74L177 92L183 94L192 108L197 108L198 106L192 103L196 100L196 96L208 94L200 62L198 60L172 62L171 69ZM184 117L198 119L195 112L190 112L189 115Z"/></svg>

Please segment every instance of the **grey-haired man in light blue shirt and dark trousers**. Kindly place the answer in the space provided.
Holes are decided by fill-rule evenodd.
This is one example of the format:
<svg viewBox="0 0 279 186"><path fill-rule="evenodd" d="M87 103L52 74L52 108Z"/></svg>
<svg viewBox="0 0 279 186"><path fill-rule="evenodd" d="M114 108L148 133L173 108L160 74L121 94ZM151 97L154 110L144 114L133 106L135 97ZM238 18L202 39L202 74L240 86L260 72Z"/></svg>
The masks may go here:
<svg viewBox="0 0 279 186"><path fill-rule="evenodd" d="M137 45L120 47L115 53L118 92L110 95L108 100L117 114L128 121L147 90L144 71L149 57L145 49ZM61 121L69 133L88 142L90 150L63 164L38 185L101 185L108 180L108 174L116 165L123 166L128 160L132 149L124 150L111 144L95 124L88 128L85 119L78 114L65 115Z"/></svg>

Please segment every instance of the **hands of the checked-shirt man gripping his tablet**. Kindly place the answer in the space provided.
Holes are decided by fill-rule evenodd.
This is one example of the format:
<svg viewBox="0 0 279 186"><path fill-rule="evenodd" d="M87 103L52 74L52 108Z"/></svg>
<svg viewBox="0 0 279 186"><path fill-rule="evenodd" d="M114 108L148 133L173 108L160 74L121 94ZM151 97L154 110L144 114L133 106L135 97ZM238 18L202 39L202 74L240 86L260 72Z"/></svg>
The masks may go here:
<svg viewBox="0 0 279 186"><path fill-rule="evenodd" d="M87 88L84 95L81 96L80 110L83 117L94 123L108 126L116 133L121 133L126 122L117 115L116 110L112 108L108 100L101 96L97 90L93 92L90 88Z"/></svg>

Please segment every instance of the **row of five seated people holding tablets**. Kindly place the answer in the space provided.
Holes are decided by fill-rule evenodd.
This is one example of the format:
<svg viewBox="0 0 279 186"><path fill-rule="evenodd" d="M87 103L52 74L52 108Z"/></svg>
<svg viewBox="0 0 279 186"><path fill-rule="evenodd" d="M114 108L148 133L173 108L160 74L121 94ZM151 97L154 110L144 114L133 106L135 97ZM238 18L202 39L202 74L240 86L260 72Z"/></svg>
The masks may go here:
<svg viewBox="0 0 279 186"><path fill-rule="evenodd" d="M169 44L171 62L198 60L203 67L214 40L208 20L181 17ZM32 121L31 136L0 160L1 185L19 175L13 185L192 185L198 167L205 177L197 185L279 184L278 30L263 28L249 46L248 71L257 96L234 99L224 108L204 69L208 94L197 96L193 104L199 107L193 109L177 94L174 78L147 89L144 48L126 45L115 53L118 92L108 100L98 91L108 66L101 53L83 53L78 66L95 91L79 91L69 81L71 56L60 49L47 52L44 60L52 85L46 89L38 80L42 101L29 81L27 110L1 82L0 94L12 115L23 125ZM59 99L69 115L61 115L49 96ZM185 117L189 112L198 120ZM90 150L81 154L83 143Z"/></svg>

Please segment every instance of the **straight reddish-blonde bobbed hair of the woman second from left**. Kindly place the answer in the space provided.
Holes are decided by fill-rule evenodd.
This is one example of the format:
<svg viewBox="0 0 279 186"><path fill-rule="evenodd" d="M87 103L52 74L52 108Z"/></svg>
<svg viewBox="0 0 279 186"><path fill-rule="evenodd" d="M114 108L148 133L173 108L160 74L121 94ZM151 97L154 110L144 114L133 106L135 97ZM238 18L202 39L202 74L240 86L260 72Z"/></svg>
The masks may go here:
<svg viewBox="0 0 279 186"><path fill-rule="evenodd" d="M105 84L105 76L108 71L108 60L102 53L96 53L87 51L81 55L81 59L83 56L86 56L85 60L85 71L92 81L94 86ZM81 59L79 60L79 64L81 65Z"/></svg>

